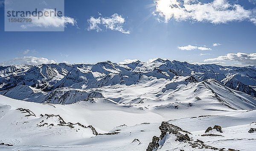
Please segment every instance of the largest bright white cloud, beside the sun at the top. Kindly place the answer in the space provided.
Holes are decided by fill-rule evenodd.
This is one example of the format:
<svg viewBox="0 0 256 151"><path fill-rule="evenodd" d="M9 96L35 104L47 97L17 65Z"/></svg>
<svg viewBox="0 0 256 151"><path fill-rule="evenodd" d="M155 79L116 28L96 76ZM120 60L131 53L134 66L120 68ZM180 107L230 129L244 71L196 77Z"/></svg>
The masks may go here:
<svg viewBox="0 0 256 151"><path fill-rule="evenodd" d="M192 20L213 24L249 20L256 23L253 10L246 10L241 5L230 4L227 0L213 0L202 3L198 0L155 0L156 13L166 22Z"/></svg>

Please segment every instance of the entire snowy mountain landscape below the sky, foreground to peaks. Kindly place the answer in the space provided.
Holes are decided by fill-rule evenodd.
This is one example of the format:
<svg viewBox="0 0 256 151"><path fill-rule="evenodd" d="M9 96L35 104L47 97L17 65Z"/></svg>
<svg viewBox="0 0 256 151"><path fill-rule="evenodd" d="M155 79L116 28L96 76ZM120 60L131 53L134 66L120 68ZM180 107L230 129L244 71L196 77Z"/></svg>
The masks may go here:
<svg viewBox="0 0 256 151"><path fill-rule="evenodd" d="M256 66L0 66L0 150L255 148Z"/></svg>

